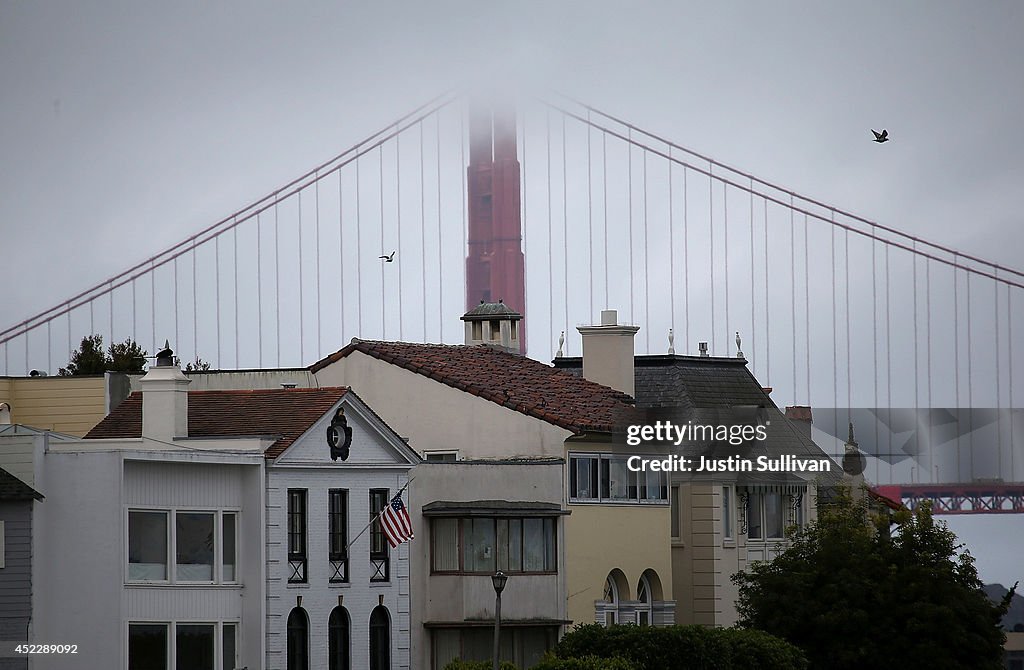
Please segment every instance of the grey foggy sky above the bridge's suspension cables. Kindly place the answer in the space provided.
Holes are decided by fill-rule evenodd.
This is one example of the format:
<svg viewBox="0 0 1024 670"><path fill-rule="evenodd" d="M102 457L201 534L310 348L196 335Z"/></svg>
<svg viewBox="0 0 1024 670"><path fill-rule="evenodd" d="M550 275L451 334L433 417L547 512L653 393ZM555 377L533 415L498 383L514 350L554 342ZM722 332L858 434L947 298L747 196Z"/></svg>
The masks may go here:
<svg viewBox="0 0 1024 670"><path fill-rule="evenodd" d="M680 5L0 0L0 327L488 72L1024 265L1024 6Z"/></svg>

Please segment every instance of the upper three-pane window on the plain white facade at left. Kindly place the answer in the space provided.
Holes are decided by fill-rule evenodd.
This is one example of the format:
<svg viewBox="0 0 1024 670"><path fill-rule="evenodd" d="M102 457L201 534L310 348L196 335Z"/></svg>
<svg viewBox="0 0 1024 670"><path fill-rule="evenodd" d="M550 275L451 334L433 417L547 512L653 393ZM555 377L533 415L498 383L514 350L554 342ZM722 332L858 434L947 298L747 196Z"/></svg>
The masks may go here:
<svg viewBox="0 0 1024 670"><path fill-rule="evenodd" d="M237 512L130 509L127 544L129 582L210 584L238 579ZM173 570L168 570L170 556Z"/></svg>

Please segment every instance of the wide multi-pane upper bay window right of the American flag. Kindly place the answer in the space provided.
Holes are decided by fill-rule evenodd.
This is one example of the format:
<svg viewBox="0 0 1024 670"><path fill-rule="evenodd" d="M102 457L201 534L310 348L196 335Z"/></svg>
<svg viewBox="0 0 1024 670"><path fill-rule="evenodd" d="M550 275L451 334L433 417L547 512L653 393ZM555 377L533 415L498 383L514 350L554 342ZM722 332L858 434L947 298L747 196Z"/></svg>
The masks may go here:
<svg viewBox="0 0 1024 670"><path fill-rule="evenodd" d="M551 517L435 518L431 521L433 572L556 573L555 529Z"/></svg>

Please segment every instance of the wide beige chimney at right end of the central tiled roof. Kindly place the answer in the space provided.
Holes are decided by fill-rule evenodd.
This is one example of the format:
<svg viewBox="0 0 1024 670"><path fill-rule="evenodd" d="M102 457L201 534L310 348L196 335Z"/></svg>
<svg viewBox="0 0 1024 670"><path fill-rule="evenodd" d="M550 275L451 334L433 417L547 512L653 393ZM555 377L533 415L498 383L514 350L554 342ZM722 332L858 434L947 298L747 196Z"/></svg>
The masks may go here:
<svg viewBox="0 0 1024 670"><path fill-rule="evenodd" d="M636 394L633 338L639 326L617 323L614 309L601 311L600 326L579 326L583 336L583 376L585 379Z"/></svg>

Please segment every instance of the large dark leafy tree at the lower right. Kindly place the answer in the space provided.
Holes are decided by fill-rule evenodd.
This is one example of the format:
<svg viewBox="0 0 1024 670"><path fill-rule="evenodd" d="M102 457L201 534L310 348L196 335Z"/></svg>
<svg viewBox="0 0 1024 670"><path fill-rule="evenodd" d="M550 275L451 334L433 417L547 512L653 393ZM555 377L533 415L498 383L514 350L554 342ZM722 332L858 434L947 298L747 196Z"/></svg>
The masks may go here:
<svg viewBox="0 0 1024 670"><path fill-rule="evenodd" d="M823 506L790 549L733 576L740 626L793 642L814 668L1001 668L1010 598L985 596L929 505L897 514L891 534L880 524L849 495Z"/></svg>

